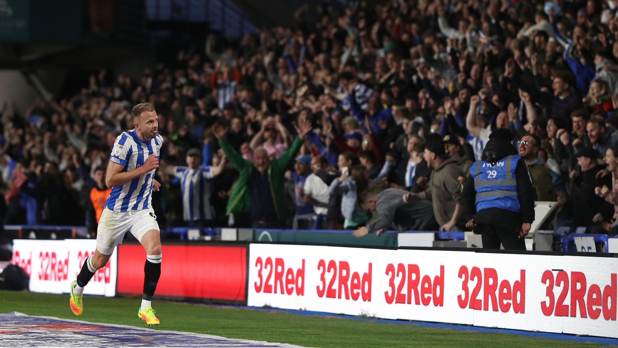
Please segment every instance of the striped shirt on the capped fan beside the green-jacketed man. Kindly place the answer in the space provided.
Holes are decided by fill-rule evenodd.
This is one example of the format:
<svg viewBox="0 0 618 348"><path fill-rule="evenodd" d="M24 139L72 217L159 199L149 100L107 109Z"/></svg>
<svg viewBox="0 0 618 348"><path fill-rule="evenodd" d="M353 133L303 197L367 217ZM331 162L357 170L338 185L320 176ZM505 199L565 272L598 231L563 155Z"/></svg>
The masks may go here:
<svg viewBox="0 0 618 348"><path fill-rule="evenodd" d="M207 165L196 169L176 167L174 175L180 178L182 188L182 219L185 221L214 219L211 202L212 167Z"/></svg>

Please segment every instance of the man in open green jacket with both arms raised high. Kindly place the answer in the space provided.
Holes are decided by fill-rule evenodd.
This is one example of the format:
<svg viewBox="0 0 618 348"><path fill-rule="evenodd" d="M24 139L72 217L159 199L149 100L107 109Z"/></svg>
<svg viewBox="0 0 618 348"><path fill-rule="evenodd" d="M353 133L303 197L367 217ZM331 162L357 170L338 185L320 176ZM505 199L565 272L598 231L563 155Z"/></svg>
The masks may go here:
<svg viewBox="0 0 618 348"><path fill-rule="evenodd" d="M311 123L304 120L295 127L298 137L281 157L270 160L266 150L258 147L253 152L253 161L250 161L243 159L231 146L226 137L227 128L214 124L213 133L219 139L219 146L227 160L240 172L227 202L226 214L248 213L253 228L283 227L282 222L289 214L284 175L311 131Z"/></svg>

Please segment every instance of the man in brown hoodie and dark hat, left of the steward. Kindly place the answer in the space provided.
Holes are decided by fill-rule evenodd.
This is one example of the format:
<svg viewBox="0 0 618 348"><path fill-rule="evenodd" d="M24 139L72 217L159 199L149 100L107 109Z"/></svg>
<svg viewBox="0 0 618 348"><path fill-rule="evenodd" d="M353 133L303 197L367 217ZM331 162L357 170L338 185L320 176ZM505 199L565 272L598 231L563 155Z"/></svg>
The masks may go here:
<svg viewBox="0 0 618 348"><path fill-rule="evenodd" d="M413 199L430 199L433 212L441 231L462 231L464 220L463 209L459 205L461 186L458 178L465 176L457 160L446 155L442 139L432 137L425 145L423 158L433 169L427 189L421 193L408 193L404 201Z"/></svg>

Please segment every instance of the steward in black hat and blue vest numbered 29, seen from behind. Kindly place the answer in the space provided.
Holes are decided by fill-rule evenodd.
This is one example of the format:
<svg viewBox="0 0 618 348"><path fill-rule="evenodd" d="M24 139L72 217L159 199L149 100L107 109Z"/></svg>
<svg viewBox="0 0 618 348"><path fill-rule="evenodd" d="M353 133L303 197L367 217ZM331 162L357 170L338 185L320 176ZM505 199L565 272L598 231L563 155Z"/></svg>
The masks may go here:
<svg viewBox="0 0 618 348"><path fill-rule="evenodd" d="M535 219L532 182L526 163L512 146L508 129L489 136L483 156L470 167L460 204L466 227L481 233L483 248L526 250L525 237Z"/></svg>

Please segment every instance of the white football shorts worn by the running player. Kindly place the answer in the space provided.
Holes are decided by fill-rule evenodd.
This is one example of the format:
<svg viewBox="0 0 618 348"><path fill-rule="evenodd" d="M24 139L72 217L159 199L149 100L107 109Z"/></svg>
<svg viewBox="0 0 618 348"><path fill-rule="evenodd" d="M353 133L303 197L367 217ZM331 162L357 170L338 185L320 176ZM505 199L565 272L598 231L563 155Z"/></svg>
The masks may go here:
<svg viewBox="0 0 618 348"><path fill-rule="evenodd" d="M159 231L155 211L143 209L141 211L115 212L104 208L96 230L96 250L101 254L112 254L114 247L122 244L122 238L129 230L140 243L146 232L150 230Z"/></svg>

